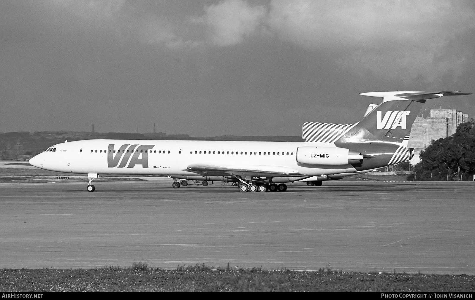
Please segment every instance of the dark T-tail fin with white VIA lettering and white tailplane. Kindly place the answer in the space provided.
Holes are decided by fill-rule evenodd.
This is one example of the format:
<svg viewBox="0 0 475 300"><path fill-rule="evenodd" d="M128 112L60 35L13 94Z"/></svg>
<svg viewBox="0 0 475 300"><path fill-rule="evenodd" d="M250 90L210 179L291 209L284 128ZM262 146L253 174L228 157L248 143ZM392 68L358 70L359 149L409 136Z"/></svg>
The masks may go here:
<svg viewBox="0 0 475 300"><path fill-rule="evenodd" d="M390 141L403 143L409 139L412 123L427 99L468 95L457 92L372 92L361 95L382 97L383 101L367 112L339 141Z"/></svg>

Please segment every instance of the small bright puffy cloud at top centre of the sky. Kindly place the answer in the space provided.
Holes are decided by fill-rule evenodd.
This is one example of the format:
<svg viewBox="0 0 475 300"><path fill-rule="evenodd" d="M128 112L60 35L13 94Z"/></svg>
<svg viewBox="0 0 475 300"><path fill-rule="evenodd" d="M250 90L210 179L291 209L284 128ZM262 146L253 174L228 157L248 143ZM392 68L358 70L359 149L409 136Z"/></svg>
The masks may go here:
<svg viewBox="0 0 475 300"><path fill-rule="evenodd" d="M205 14L196 23L205 23L211 29L211 40L217 46L231 46L260 30L267 10L264 6L251 7L244 0L228 0L205 7Z"/></svg>

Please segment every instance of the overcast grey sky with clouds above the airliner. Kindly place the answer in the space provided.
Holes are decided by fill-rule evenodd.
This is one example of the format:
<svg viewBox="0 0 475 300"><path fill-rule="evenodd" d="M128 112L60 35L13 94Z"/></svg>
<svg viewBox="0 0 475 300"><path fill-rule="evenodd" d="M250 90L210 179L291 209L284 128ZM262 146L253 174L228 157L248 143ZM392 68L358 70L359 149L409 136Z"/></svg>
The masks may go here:
<svg viewBox="0 0 475 300"><path fill-rule="evenodd" d="M473 0L0 2L1 132L300 135L394 90L475 93Z"/></svg>

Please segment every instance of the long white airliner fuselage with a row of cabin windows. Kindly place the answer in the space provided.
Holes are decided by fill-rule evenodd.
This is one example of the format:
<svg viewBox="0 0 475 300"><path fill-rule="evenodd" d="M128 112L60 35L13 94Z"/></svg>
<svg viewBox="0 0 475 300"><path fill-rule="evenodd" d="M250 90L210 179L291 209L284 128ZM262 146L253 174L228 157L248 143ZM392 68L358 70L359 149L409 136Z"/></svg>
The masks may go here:
<svg viewBox="0 0 475 300"><path fill-rule="evenodd" d="M188 169L192 164L285 167L298 170L305 177L360 173L351 165L309 167L298 164L297 148L309 145L335 147L333 143L315 142L84 140L57 144L53 146L54 152L40 153L30 163L42 169L83 174L202 176L202 172ZM145 150L130 153L127 152L129 147Z"/></svg>

